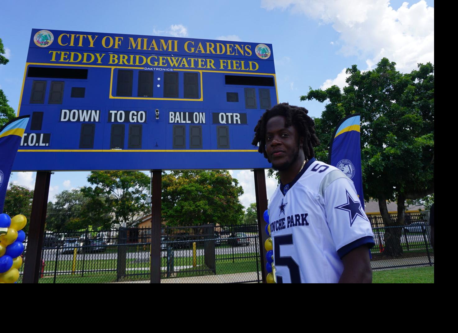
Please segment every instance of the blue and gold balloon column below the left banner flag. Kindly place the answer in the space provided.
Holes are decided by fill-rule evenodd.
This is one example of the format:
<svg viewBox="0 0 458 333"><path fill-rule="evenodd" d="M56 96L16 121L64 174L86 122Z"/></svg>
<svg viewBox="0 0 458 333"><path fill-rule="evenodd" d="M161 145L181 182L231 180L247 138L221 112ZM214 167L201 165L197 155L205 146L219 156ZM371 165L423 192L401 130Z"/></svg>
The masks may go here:
<svg viewBox="0 0 458 333"><path fill-rule="evenodd" d="M7 214L0 214L0 283L15 283L19 279L22 265L22 242L26 234L21 229L27 224L24 215L12 219Z"/></svg>

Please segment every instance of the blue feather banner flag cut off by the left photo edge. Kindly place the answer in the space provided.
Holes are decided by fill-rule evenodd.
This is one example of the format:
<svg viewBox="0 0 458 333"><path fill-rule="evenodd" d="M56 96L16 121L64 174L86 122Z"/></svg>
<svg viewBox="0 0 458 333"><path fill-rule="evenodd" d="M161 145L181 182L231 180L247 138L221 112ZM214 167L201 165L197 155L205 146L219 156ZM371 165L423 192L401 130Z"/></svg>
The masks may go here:
<svg viewBox="0 0 458 333"><path fill-rule="evenodd" d="M6 188L10 180L11 168L21 144L29 115L14 118L0 129L0 214L3 213Z"/></svg>

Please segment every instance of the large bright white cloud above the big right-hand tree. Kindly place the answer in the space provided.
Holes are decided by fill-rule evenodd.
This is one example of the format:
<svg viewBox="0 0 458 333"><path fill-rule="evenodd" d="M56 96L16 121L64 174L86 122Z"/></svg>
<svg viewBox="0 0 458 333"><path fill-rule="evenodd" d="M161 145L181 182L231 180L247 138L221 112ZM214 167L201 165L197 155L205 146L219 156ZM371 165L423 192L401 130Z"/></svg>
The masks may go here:
<svg viewBox="0 0 458 333"><path fill-rule="evenodd" d="M365 59L368 69L387 57L398 70L409 72L417 63L434 63L434 8L421 0L398 10L388 0L262 0L267 10L290 9L340 33L344 55Z"/></svg>

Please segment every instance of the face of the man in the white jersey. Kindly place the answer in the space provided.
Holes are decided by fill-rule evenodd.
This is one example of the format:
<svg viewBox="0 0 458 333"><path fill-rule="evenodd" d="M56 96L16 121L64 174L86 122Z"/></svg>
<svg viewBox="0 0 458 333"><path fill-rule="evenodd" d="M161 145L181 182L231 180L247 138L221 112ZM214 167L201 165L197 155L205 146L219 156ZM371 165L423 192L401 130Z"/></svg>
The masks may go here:
<svg viewBox="0 0 458 333"><path fill-rule="evenodd" d="M294 126L285 127L283 116L270 118L266 125L266 152L272 167L287 170L297 161L302 140Z"/></svg>

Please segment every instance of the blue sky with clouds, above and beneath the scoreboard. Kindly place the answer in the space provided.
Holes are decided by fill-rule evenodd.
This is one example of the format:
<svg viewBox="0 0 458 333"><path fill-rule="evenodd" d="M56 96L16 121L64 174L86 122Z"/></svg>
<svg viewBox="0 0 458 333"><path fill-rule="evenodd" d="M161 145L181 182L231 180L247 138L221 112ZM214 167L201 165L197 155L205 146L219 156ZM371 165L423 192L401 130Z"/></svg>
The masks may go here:
<svg viewBox="0 0 458 333"><path fill-rule="evenodd" d="M271 43L280 102L300 105L319 117L324 105L300 102L309 87L344 86L344 70L371 69L382 58L408 72L434 64L434 1L386 0L98 0L6 1L0 38L10 59L0 66L0 89L19 104L32 28L135 35L176 36ZM253 173L231 171L255 202ZM64 189L85 186L88 172L55 172L49 200ZM34 186L34 172L15 172L10 183ZM276 182L267 179L267 195Z"/></svg>

